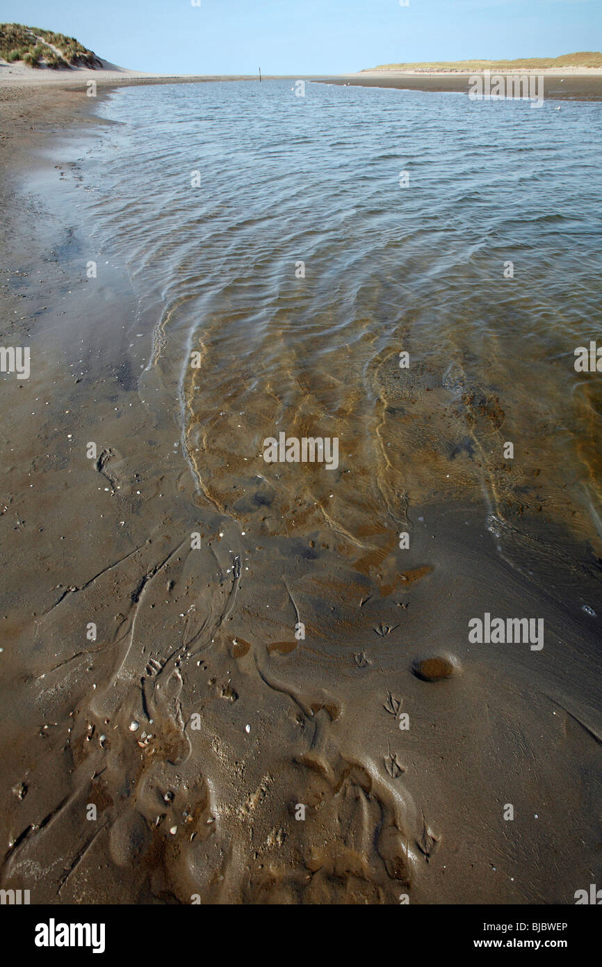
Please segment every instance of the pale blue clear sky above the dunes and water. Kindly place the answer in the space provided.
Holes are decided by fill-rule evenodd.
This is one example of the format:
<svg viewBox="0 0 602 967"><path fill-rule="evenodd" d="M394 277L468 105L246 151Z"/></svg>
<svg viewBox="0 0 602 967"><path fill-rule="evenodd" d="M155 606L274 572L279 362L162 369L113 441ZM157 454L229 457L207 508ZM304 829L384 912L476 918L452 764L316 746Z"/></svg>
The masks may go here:
<svg viewBox="0 0 602 967"><path fill-rule="evenodd" d="M349 73L602 47L601 0L0 0L0 19L159 73Z"/></svg>

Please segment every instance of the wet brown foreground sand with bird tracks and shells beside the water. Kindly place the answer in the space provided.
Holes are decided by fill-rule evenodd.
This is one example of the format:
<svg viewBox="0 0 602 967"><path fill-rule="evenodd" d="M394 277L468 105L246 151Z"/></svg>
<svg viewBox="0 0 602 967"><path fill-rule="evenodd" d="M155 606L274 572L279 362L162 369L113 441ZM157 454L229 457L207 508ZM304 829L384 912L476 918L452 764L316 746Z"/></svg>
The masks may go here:
<svg viewBox="0 0 602 967"><path fill-rule="evenodd" d="M139 382L157 320L124 267L75 283L87 226L27 192L76 181L72 147L51 171L41 147L94 131L90 105L0 109L2 337L35 361L1 383L1 886L34 903L574 902L601 875L596 536L535 501L514 513L511 487L489 527L461 486L422 504L391 487L388 527L359 509L343 533L326 500L287 506L269 480L233 499L236 468L211 450L191 467L154 373ZM436 369L417 378L395 399L384 364L385 434L444 394ZM477 399L474 419L495 430L496 412ZM543 618L544 649L470 644L483 611Z"/></svg>

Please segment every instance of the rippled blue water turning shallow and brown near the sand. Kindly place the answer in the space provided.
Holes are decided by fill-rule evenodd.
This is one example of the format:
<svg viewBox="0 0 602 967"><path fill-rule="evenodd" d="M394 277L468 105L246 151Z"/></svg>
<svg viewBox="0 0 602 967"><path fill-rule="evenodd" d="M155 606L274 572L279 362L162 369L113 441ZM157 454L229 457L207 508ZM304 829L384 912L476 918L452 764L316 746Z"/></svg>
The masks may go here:
<svg viewBox="0 0 602 967"><path fill-rule="evenodd" d="M457 500L501 542L539 515L599 549L600 374L573 354L598 331L602 106L291 88L140 87L101 108L122 126L86 197L157 301L144 378L200 499L333 533L359 571L413 509ZM338 468L265 462L282 431L337 438Z"/></svg>

